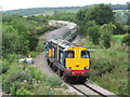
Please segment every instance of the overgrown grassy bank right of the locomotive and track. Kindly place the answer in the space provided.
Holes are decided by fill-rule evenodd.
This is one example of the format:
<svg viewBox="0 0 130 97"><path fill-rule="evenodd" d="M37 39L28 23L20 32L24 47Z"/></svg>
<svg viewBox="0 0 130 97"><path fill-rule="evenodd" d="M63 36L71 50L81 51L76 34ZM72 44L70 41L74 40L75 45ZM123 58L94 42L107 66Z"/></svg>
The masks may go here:
<svg viewBox="0 0 130 97"><path fill-rule="evenodd" d="M119 40L121 40L121 37L119 37ZM93 45L88 38L81 44L95 50L91 53L90 80L115 94L128 95L128 66L130 65L128 52L126 46L117 45L116 41L112 41L110 48Z"/></svg>

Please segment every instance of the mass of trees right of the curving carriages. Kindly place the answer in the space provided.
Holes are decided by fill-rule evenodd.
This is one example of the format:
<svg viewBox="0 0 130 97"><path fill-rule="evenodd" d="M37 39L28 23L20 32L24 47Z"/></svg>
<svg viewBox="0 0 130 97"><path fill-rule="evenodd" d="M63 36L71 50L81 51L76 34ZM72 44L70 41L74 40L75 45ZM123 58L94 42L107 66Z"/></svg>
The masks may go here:
<svg viewBox="0 0 130 97"><path fill-rule="evenodd" d="M79 25L79 34L90 37L95 45L103 44L106 48L110 47L113 34L129 34L130 31L129 25L122 25L115 19L115 13L107 4L78 11L76 23ZM128 38L126 36L123 40L130 42Z"/></svg>

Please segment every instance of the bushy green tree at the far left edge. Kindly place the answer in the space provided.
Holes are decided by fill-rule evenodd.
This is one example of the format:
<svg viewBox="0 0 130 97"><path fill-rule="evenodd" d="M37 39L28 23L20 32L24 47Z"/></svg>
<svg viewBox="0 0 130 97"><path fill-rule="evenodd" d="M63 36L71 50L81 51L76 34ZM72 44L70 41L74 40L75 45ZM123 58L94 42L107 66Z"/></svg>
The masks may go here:
<svg viewBox="0 0 130 97"><path fill-rule="evenodd" d="M18 50L20 36L12 26L3 26L2 32L2 53L3 56L12 54Z"/></svg>

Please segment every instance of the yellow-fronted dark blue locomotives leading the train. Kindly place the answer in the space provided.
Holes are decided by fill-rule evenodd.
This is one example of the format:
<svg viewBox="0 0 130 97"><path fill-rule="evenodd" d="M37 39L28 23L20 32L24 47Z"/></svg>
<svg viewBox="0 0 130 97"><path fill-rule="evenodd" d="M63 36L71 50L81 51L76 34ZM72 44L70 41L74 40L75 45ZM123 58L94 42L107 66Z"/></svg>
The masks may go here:
<svg viewBox="0 0 130 97"><path fill-rule="evenodd" d="M46 57L52 69L67 82L86 82L90 73L90 52L65 40L46 43Z"/></svg>

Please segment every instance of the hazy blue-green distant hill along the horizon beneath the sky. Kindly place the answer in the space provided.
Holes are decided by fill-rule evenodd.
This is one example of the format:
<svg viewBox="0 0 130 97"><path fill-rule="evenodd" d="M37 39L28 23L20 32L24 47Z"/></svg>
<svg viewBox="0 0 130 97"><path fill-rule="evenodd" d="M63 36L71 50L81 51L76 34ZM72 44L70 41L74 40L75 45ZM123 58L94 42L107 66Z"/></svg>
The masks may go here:
<svg viewBox="0 0 130 97"><path fill-rule="evenodd" d="M84 9L84 8L92 8L96 4L92 5L84 5L84 6L70 6L70 8L32 8L32 9L20 9L20 10L11 10L11 11L4 11L3 15L9 15L9 14L18 14L23 16L28 16L28 15L36 15L36 14L43 14L43 15L52 15L55 11L61 11L61 12L77 12L79 9ZM113 10L127 10L128 6L127 4L109 4Z"/></svg>

